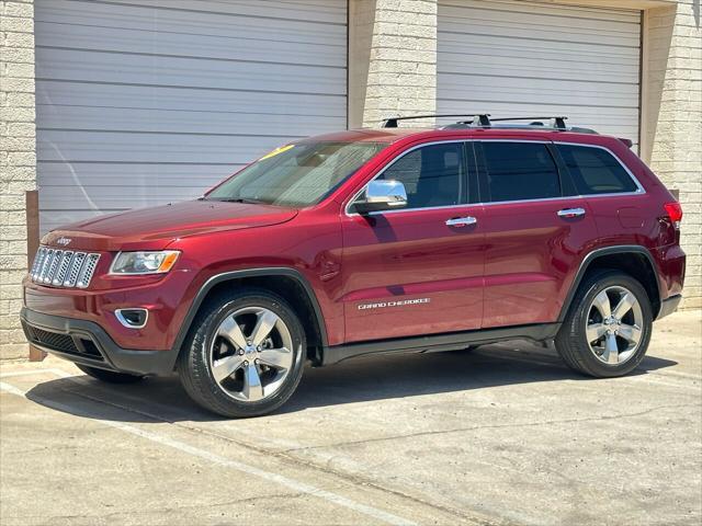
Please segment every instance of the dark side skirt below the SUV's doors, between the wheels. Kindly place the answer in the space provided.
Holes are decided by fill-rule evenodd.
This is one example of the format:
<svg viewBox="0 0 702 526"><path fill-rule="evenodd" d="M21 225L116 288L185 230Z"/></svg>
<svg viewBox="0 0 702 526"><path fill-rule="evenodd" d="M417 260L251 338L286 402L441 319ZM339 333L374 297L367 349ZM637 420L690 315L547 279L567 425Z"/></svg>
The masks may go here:
<svg viewBox="0 0 702 526"><path fill-rule="evenodd" d="M344 359L369 354L458 351L468 345L496 343L507 340L547 342L556 338L558 329L561 329L561 323L539 323L333 345L322 350L321 365L338 364Z"/></svg>

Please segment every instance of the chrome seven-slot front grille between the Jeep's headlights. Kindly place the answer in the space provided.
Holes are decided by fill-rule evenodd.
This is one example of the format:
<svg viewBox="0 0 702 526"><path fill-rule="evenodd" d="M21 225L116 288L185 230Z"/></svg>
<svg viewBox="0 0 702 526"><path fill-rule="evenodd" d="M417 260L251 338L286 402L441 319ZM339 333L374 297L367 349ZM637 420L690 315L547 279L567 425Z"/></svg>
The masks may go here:
<svg viewBox="0 0 702 526"><path fill-rule="evenodd" d="M39 247L32 265L32 281L54 287L88 288L100 254Z"/></svg>

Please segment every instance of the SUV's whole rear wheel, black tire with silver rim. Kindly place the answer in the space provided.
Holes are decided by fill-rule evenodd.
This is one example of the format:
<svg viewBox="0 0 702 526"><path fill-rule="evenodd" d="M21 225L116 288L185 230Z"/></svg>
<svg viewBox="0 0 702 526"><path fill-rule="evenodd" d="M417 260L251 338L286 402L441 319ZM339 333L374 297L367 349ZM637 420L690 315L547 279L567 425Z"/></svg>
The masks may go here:
<svg viewBox="0 0 702 526"><path fill-rule="evenodd" d="M622 376L644 359L652 329L650 300L641 283L622 272L599 271L578 289L556 348L579 373Z"/></svg>

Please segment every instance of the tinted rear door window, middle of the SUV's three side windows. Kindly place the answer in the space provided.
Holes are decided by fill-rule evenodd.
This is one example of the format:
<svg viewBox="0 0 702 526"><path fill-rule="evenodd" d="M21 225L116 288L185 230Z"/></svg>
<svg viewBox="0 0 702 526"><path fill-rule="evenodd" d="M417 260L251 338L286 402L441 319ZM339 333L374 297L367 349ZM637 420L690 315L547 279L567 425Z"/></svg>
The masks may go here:
<svg viewBox="0 0 702 526"><path fill-rule="evenodd" d="M561 196L558 170L541 142L483 142L490 201Z"/></svg>

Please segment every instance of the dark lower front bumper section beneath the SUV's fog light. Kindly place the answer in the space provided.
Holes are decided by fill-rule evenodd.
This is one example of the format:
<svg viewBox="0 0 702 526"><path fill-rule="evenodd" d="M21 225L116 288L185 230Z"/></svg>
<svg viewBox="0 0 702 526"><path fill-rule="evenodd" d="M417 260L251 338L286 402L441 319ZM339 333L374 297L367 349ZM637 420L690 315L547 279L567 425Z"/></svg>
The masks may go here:
<svg viewBox="0 0 702 526"><path fill-rule="evenodd" d="M158 376L169 375L176 366L176 352L122 348L92 321L45 315L26 307L20 318L32 345L77 364Z"/></svg>

